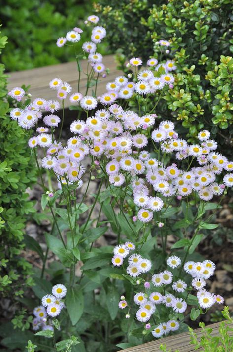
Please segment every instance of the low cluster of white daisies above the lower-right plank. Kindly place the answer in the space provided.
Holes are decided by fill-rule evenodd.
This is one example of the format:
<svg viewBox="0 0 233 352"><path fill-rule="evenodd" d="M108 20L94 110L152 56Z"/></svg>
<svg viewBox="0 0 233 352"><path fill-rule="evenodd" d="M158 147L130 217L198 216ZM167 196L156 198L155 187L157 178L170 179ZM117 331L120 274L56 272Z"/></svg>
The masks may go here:
<svg viewBox="0 0 233 352"><path fill-rule="evenodd" d="M150 260L142 258L138 253L130 254L134 250L135 245L132 242L116 246L114 248L112 263L119 267L123 264L124 258L128 257L126 272L131 277L138 277L141 274L148 273L152 267L152 263ZM171 270L176 269L181 266L181 259L175 255L171 256L167 259L167 266ZM186 299L192 289L197 291L198 304L203 309L210 308L214 303L223 303L222 296L210 293L204 288L206 280L214 274L215 264L211 260L203 262L188 261L184 264L183 269L192 277L191 288L181 279L174 280L174 277L177 277L177 273L172 273L172 271L166 269L158 274L153 274L151 280L144 283L145 291L134 295L134 302L139 306L136 312L136 319L146 322L146 329L151 328L151 324L148 321L153 313L155 313L157 305L162 304L170 308L167 315L173 315L174 319L162 322L153 328L152 335L154 337L160 337L170 331L178 330L179 322L175 320L177 317L176 313L184 313L186 311ZM136 282L140 284L142 281L137 280ZM154 287L158 291L155 291ZM119 308L125 309L127 307L131 309L125 297L122 296ZM129 313L126 314L126 318L129 317Z"/></svg>

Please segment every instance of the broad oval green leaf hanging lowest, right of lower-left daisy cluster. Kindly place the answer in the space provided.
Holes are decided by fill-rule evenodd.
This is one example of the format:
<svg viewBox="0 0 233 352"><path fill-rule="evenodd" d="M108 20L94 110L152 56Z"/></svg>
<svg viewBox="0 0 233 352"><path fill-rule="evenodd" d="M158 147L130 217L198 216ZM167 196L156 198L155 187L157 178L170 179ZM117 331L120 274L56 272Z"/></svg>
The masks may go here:
<svg viewBox="0 0 233 352"><path fill-rule="evenodd" d="M72 325L75 325L81 318L84 309L83 293L79 287L68 288L66 305Z"/></svg>

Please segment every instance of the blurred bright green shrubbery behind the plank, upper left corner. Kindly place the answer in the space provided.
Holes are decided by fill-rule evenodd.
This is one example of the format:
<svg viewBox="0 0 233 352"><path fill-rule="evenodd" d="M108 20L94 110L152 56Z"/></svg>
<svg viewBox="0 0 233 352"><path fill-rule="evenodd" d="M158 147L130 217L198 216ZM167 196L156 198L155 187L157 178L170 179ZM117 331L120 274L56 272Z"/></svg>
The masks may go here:
<svg viewBox="0 0 233 352"><path fill-rule="evenodd" d="M1 59L6 70L25 70L73 60L73 48L61 50L56 40L79 26L91 13L91 7L92 1L85 0L5 1L1 6L1 22L9 43ZM85 40L87 31L81 43Z"/></svg>

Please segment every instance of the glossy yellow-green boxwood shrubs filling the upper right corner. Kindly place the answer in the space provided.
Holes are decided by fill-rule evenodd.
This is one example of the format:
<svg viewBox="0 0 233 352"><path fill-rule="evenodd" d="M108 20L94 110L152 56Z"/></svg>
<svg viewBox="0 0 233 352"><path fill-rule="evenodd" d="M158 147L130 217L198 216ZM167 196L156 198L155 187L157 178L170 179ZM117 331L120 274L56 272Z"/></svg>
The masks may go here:
<svg viewBox="0 0 233 352"><path fill-rule="evenodd" d="M166 104L162 101L156 113L182 121L190 140L201 128L208 128L225 149L233 133L233 61L220 55L226 57L233 52L233 3L154 2L100 0L95 8L107 29L111 49L122 48L121 64L132 56L160 58L156 42L171 42L170 54L162 58L170 55L175 59L176 80L174 89L164 97ZM117 23L120 35L113 23Z"/></svg>

